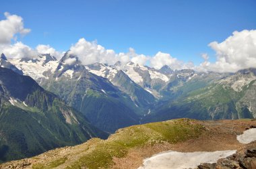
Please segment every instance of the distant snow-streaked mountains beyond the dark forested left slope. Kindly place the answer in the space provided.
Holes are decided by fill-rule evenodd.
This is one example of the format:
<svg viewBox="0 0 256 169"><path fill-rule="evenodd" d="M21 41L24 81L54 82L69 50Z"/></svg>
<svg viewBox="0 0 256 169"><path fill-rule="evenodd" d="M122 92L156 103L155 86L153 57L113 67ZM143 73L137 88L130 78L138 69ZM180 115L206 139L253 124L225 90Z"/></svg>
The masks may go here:
<svg viewBox="0 0 256 169"><path fill-rule="evenodd" d="M98 123L98 127L110 132L121 127L118 124L119 120L113 123L116 127L107 127L107 121L110 119L106 119L104 115L107 113L117 115L118 111L123 112L120 118L130 119L127 126L181 117L238 119L253 117L256 113L255 107L251 106L253 103L249 101L254 98L253 85L250 89L241 88L243 82L250 83L251 78L247 76L254 76L248 75L248 72L254 70L253 68L239 70L236 73L217 73L197 72L189 69L172 70L166 65L156 70L133 62L127 64L117 62L110 66L100 63L83 65L77 56L66 52L61 60L51 60L44 64L44 70L39 70L38 75L30 71L30 67L34 68L37 64L40 64L38 66L40 68L44 60L46 58L41 57L36 62L24 63L17 60L10 60L10 62L21 68L25 74L31 75L44 89L55 93L70 106L82 111L92 123L98 123L97 118L100 117L101 122ZM53 65L50 66L50 64ZM224 84L224 80L227 79L234 83L230 86L231 88L228 87L228 83ZM224 89L224 86L229 89ZM110 87L111 90L108 91L106 87ZM208 89L212 89L212 94L209 92L207 94ZM242 95L237 90L247 94ZM201 101L198 101L197 97L203 93L218 98L220 101L226 98L229 103L207 101L210 97L201 98ZM236 98L235 101L233 101L234 98ZM236 102L237 98L241 99L239 103ZM98 105L104 107L97 110L101 113L94 111ZM108 105L115 109L111 109Z"/></svg>

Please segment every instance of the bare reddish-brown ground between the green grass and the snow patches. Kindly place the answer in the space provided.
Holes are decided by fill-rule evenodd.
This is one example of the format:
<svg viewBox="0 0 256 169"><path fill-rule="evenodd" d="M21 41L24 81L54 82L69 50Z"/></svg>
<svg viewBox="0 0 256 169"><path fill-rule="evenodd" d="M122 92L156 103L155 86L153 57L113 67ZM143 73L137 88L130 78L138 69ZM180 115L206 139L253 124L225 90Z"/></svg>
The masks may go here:
<svg viewBox="0 0 256 169"><path fill-rule="evenodd" d="M205 126L205 132L197 139L189 139L179 144L158 144L153 147L145 147L130 150L125 158L115 158L114 168L138 168L143 159L150 158L154 154L173 150L178 152L214 152L218 150L238 150L241 153L247 150L248 145L237 141L236 135L240 135L246 129L256 125L255 120L220 120L200 121ZM252 144L252 146L255 144ZM207 167L205 166L205 169ZM212 168L211 168L212 169Z"/></svg>

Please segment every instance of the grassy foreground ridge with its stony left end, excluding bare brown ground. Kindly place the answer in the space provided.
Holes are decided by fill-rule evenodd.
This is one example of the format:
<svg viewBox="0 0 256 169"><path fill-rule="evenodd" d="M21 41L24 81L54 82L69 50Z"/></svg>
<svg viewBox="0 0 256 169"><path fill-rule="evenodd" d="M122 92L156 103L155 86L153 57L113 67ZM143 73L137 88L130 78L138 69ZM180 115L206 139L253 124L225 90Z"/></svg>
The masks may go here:
<svg viewBox="0 0 256 169"><path fill-rule="evenodd" d="M134 125L119 129L106 140L93 138L79 146L51 150L34 158L3 164L2 167L22 165L28 168L111 168L115 158L127 156L131 149L166 142L177 144L199 137L204 130L203 125L191 119Z"/></svg>

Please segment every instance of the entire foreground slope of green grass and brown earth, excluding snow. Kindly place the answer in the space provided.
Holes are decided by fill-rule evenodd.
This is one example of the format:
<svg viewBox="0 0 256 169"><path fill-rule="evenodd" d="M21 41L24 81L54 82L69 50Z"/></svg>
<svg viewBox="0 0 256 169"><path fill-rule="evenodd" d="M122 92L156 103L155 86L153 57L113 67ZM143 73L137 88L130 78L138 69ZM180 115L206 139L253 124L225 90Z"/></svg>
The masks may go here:
<svg viewBox="0 0 256 169"><path fill-rule="evenodd" d="M7 162L1 168L138 168L142 160L166 150L179 152L242 150L236 135L255 120L175 119L119 129L108 139L90 139L39 156Z"/></svg>

